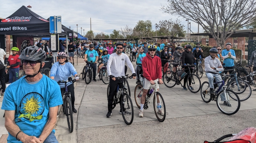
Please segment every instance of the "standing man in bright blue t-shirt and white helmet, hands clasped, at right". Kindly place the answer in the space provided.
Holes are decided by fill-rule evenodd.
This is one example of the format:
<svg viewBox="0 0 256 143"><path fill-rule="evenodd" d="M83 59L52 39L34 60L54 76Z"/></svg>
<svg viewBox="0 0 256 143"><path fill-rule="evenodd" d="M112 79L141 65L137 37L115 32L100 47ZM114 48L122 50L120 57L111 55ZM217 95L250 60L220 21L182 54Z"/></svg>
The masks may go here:
<svg viewBox="0 0 256 143"><path fill-rule="evenodd" d="M226 49L222 51L221 55L224 58L223 63L225 63L225 70L227 69L234 69L234 60L236 60L236 54L235 51L231 49L232 44L226 43ZM229 71L231 73L233 71ZM227 74L227 71L224 71L225 74Z"/></svg>

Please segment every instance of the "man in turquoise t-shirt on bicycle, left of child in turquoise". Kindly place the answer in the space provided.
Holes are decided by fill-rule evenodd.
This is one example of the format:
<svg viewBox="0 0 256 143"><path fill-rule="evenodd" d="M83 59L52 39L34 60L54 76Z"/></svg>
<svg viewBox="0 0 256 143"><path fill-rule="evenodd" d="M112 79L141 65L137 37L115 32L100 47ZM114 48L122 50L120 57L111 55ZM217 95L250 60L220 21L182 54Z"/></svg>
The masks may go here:
<svg viewBox="0 0 256 143"><path fill-rule="evenodd" d="M84 54L84 61L85 62L90 62L92 61L92 64L91 64L91 67L92 67L92 73L93 73L93 76L92 76L92 81L97 81L95 79L96 77L96 68L97 68L97 61L98 61L98 52L95 51L93 48L94 48L94 45L93 44L90 44L89 45L89 50L87 50Z"/></svg>

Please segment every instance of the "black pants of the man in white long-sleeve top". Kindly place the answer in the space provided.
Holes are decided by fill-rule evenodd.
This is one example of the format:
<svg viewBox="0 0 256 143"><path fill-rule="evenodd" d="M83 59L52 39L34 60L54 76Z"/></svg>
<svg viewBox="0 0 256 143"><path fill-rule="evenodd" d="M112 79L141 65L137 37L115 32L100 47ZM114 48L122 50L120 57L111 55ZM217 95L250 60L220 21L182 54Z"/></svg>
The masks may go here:
<svg viewBox="0 0 256 143"><path fill-rule="evenodd" d="M119 88L123 87L123 80L112 80L109 79L109 93L108 93L108 111L112 112L113 109L113 100L115 92L117 92L117 85L119 84ZM122 99L120 96L119 101ZM120 102L120 109L121 109L121 102Z"/></svg>

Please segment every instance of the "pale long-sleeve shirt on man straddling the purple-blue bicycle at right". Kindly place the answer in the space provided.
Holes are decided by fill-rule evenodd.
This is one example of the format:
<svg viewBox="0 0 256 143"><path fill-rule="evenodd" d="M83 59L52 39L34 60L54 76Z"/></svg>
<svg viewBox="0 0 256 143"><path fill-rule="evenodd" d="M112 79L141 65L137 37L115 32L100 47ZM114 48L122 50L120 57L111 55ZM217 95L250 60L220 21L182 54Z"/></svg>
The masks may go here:
<svg viewBox="0 0 256 143"><path fill-rule="evenodd" d="M220 60L217 59L216 57L214 59L212 59L211 56L208 56L204 59L204 68L205 68L205 72L215 72L215 73L219 73L219 72L223 72L224 69L220 63ZM219 66L221 66L221 68L218 68ZM212 69L212 68L216 68Z"/></svg>

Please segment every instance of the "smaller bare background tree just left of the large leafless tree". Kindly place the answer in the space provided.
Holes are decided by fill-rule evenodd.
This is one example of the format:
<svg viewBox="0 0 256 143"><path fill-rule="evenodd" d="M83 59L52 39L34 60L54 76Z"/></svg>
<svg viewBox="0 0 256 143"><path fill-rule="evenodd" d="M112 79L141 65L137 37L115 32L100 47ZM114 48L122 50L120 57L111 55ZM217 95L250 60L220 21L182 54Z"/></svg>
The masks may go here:
<svg viewBox="0 0 256 143"><path fill-rule="evenodd" d="M179 24L181 21L176 19L176 21L163 20L160 21L159 24L155 24L159 31L161 31L167 38L172 41L174 36L176 36L180 31L183 31L183 25Z"/></svg>

